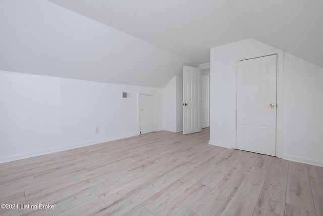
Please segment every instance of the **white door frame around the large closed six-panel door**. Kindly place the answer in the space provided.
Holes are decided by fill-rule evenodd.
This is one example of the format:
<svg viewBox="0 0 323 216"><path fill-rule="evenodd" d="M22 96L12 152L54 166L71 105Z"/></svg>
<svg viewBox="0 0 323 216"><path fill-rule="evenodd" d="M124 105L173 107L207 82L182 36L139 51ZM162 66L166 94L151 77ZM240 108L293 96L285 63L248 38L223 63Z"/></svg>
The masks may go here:
<svg viewBox="0 0 323 216"><path fill-rule="evenodd" d="M283 59L284 53L281 50L275 49L260 53L254 53L245 56L239 56L233 62L233 146L237 148L237 61L258 58L263 56L277 54L277 112L276 112L276 157L282 158L283 156Z"/></svg>

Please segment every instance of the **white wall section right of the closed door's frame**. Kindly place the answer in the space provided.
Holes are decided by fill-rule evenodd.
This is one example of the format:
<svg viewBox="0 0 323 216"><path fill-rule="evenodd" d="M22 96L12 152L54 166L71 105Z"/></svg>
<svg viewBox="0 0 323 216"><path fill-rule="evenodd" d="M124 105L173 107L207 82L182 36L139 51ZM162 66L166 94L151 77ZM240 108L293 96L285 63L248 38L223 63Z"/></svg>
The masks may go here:
<svg viewBox="0 0 323 216"><path fill-rule="evenodd" d="M284 53L283 158L323 166L323 68Z"/></svg>

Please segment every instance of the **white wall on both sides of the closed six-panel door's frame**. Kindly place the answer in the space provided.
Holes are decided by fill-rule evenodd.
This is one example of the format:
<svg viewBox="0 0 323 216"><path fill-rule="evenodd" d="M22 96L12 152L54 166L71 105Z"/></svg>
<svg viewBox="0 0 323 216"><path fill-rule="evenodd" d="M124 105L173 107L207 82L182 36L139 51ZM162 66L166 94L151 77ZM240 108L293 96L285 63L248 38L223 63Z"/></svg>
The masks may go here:
<svg viewBox="0 0 323 216"><path fill-rule="evenodd" d="M209 144L235 147L235 58L273 49L254 39L211 49ZM323 78L323 68L287 53L284 55L283 158L323 166L323 114L319 112L323 106L323 87L319 83Z"/></svg>

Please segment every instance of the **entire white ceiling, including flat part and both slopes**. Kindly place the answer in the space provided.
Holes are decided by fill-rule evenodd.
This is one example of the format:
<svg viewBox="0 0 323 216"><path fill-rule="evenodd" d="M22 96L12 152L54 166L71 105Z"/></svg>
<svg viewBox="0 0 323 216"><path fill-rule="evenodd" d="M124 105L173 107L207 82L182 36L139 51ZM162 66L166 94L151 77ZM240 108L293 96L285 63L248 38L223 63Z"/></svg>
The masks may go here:
<svg viewBox="0 0 323 216"><path fill-rule="evenodd" d="M246 38L323 67L321 0L3 0L0 29L16 72L163 88Z"/></svg>

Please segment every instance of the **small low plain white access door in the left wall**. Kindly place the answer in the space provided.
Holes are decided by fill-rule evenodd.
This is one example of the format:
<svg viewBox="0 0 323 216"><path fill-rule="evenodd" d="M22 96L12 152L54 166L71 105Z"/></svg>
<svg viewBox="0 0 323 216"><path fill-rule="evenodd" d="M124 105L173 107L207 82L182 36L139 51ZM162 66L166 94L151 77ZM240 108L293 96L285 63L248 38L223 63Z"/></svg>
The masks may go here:
<svg viewBox="0 0 323 216"><path fill-rule="evenodd" d="M140 134L155 131L155 96L139 95Z"/></svg>

